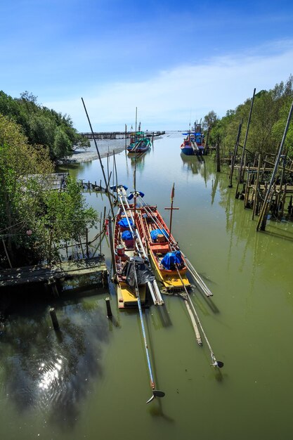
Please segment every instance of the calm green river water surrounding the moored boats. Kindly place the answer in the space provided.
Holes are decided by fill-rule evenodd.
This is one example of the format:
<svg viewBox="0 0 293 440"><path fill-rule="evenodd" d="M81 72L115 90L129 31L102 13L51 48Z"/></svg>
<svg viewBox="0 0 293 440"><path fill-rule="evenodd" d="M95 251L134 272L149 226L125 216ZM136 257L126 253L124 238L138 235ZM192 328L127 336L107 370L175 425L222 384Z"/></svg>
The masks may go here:
<svg viewBox="0 0 293 440"><path fill-rule="evenodd" d="M257 233L252 211L235 200L235 185L228 189L228 169L217 174L213 156L202 163L182 157L182 138L155 140L136 165L136 189L169 223L164 207L175 183L180 210L172 233L214 293L206 299L194 290L191 297L224 367L211 367L207 344L197 345L183 300L164 296L165 305L150 306L143 317L155 382L166 396L146 405L141 321L138 311L117 309L113 287L52 300L40 291L37 302L18 296L0 335L1 439L293 438L293 223L270 220L266 233ZM133 161L124 152L115 158L119 183L133 190ZM100 181L98 160L68 169ZM107 205L105 195L85 197L98 212ZM107 240L102 252L110 267Z"/></svg>

